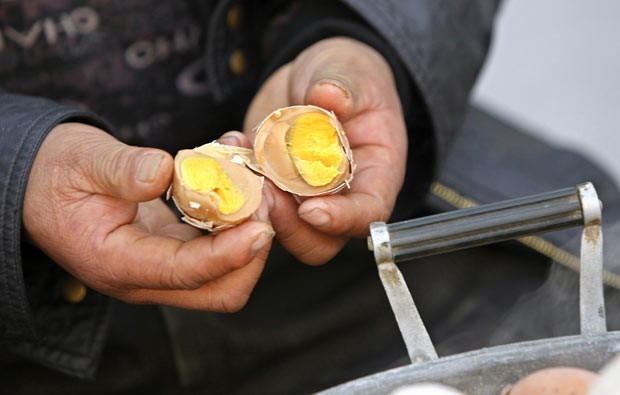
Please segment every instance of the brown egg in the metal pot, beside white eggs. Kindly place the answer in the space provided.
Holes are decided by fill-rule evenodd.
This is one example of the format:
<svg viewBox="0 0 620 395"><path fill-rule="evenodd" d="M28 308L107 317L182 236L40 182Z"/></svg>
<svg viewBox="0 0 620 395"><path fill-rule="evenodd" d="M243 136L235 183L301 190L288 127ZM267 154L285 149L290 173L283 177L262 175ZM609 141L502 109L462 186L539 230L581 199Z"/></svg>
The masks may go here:
<svg viewBox="0 0 620 395"><path fill-rule="evenodd" d="M520 379L506 395L587 395L598 375L574 367L537 370Z"/></svg>

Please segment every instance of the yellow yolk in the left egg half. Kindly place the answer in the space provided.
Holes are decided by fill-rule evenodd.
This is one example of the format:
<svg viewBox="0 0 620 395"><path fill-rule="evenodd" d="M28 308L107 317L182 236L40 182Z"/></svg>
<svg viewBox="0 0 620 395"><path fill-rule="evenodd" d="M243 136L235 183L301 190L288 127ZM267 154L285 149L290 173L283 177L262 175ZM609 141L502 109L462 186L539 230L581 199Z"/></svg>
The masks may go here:
<svg viewBox="0 0 620 395"><path fill-rule="evenodd" d="M218 197L218 206L222 214L238 211L245 199L243 194L222 167L211 158L192 157L181 163L181 174L185 183L201 193L214 193Z"/></svg>

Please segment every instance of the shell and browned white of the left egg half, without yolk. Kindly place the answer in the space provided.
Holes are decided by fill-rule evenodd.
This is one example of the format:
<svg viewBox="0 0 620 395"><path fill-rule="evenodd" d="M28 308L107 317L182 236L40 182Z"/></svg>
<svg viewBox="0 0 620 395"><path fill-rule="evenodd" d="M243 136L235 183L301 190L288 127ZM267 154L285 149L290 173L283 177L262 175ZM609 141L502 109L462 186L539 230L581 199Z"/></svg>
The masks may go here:
<svg viewBox="0 0 620 395"><path fill-rule="evenodd" d="M183 221L200 229L219 231L231 228L248 219L260 205L263 177L245 165L251 150L209 143L193 150L181 150L174 159L174 178L168 197L171 197ZM237 211L224 214L219 210L219 196L190 188L183 180L181 162L189 157L207 157L215 160L233 185L242 193L244 203Z"/></svg>

